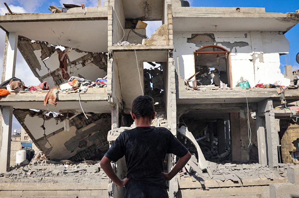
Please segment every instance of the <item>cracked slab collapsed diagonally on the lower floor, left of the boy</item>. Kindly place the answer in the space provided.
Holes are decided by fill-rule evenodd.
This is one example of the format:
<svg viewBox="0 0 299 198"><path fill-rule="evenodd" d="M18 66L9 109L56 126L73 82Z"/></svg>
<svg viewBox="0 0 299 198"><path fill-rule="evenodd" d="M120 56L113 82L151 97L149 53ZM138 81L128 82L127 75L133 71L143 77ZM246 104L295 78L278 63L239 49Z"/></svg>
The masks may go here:
<svg viewBox="0 0 299 198"><path fill-rule="evenodd" d="M30 139L51 160L100 158L109 148L106 137L111 128L110 114L86 113L86 119L83 113L73 118L74 113L45 116L44 111L18 109L13 113ZM72 118L70 131L64 131L67 114Z"/></svg>

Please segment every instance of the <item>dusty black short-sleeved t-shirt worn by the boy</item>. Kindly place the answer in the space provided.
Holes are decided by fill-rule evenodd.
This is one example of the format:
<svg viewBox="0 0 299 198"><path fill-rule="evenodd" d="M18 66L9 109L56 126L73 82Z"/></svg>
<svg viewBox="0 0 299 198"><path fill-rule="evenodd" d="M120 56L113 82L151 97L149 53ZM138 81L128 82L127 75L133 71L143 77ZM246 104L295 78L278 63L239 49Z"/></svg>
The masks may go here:
<svg viewBox="0 0 299 198"><path fill-rule="evenodd" d="M183 157L188 149L166 128L136 127L123 131L105 156L115 162L125 156L127 178L168 188L161 173L166 153Z"/></svg>

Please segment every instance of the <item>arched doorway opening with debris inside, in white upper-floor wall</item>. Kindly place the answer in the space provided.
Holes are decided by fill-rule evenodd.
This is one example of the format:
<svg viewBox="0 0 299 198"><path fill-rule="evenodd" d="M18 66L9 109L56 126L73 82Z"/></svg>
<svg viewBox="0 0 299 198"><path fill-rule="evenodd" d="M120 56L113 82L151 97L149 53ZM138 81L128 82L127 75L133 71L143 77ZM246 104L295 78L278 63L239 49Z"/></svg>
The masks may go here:
<svg viewBox="0 0 299 198"><path fill-rule="evenodd" d="M206 45L194 52L197 86L231 87L230 52L217 45Z"/></svg>

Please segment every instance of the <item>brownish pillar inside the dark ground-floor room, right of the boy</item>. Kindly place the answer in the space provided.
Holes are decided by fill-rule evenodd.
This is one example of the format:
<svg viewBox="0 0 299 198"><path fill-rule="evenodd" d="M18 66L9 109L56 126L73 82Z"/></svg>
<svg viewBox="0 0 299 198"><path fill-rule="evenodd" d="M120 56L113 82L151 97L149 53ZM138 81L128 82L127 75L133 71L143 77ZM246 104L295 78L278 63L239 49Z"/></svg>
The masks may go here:
<svg viewBox="0 0 299 198"><path fill-rule="evenodd" d="M242 154L239 113L229 113L229 123L232 139L233 161L240 162L242 160Z"/></svg>

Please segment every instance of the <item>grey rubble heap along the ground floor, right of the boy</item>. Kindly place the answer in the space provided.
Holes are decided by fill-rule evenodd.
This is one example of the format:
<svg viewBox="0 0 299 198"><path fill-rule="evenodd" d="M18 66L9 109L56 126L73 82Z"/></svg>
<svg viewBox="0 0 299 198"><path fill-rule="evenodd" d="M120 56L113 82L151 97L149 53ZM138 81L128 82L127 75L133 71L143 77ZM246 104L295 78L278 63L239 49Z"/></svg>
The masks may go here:
<svg viewBox="0 0 299 198"><path fill-rule="evenodd" d="M273 180L274 178L287 177L287 167L295 166L294 164L279 164L278 170L273 170L268 166L261 164L217 164L208 162L209 168L213 172L213 178L210 178L208 173L196 172L192 167L185 166L180 172L180 179L192 179L192 181L222 181L231 180L239 182L244 179L267 178Z"/></svg>

